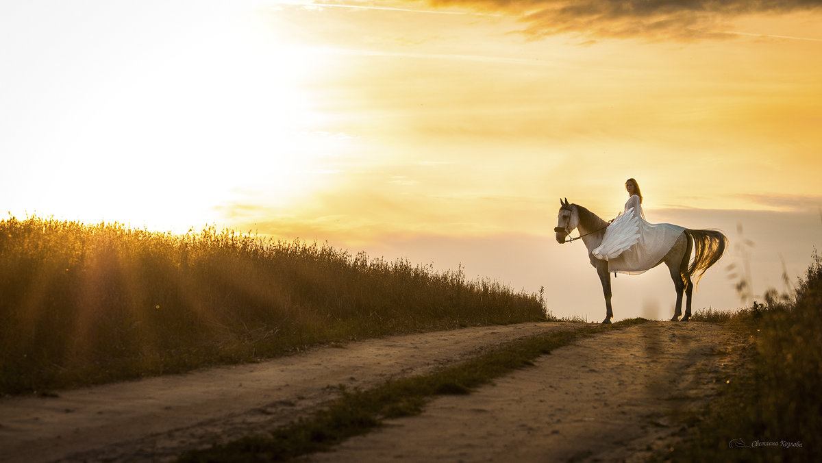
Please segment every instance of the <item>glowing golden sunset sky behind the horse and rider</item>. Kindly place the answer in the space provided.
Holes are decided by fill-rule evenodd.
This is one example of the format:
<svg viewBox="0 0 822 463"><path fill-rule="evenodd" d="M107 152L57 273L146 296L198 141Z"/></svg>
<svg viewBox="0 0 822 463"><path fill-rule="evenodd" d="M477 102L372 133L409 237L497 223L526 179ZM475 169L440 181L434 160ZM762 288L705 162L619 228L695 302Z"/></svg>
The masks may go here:
<svg viewBox="0 0 822 463"><path fill-rule="evenodd" d="M0 208L461 266L599 321L559 198L611 219L636 178L649 221L730 238L694 307L732 310L822 245L820 21L807 0L2 2ZM666 269L614 282L617 320L673 302Z"/></svg>

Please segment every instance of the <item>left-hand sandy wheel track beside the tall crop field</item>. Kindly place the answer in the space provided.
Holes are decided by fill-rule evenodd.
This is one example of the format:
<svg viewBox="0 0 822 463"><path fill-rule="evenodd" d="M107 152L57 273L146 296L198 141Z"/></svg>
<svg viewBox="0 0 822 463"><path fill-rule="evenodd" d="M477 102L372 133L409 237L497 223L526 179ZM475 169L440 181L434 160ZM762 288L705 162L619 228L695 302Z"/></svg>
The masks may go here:
<svg viewBox="0 0 822 463"><path fill-rule="evenodd" d="M421 374L509 340L580 324L524 323L363 340L235 367L0 399L0 461L165 461L317 410L337 386Z"/></svg>

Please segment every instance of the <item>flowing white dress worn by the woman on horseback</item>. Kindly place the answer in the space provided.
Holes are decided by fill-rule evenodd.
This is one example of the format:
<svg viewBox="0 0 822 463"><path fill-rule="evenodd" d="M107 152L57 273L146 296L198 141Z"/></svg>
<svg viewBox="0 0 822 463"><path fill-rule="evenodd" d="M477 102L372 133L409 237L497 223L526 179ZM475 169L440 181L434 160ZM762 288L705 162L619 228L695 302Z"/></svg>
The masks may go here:
<svg viewBox="0 0 822 463"><path fill-rule="evenodd" d="M684 231L679 225L649 224L640 197L633 195L591 253L608 262L608 271L639 275L662 262Z"/></svg>

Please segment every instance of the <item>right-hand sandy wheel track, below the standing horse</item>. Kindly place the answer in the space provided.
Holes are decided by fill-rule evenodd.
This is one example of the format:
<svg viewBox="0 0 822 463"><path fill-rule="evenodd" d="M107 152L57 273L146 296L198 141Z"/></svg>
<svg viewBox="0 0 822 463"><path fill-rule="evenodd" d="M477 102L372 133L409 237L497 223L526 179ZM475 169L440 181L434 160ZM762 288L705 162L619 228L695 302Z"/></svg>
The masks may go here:
<svg viewBox="0 0 822 463"><path fill-rule="evenodd" d="M608 331L307 460L646 461L686 432L681 412L723 387L739 342L695 322Z"/></svg>

